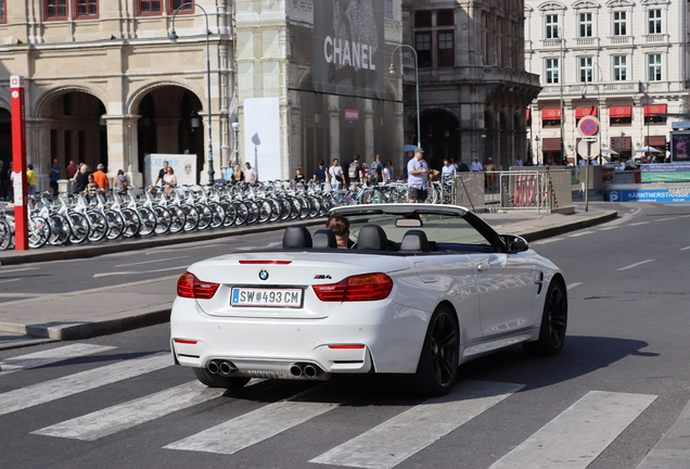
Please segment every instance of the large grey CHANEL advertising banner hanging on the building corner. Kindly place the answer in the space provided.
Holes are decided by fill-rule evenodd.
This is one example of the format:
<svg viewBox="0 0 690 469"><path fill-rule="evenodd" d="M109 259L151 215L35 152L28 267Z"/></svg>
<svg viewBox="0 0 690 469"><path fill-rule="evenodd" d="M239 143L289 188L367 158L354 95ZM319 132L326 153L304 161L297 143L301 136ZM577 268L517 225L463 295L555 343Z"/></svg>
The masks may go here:
<svg viewBox="0 0 690 469"><path fill-rule="evenodd" d="M314 89L384 97L386 72L382 0L314 1Z"/></svg>

